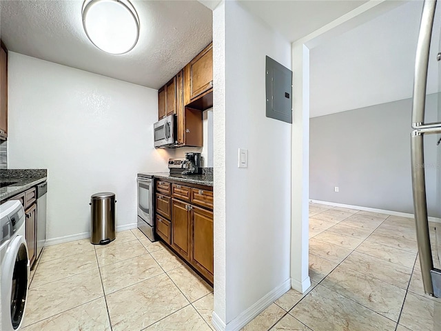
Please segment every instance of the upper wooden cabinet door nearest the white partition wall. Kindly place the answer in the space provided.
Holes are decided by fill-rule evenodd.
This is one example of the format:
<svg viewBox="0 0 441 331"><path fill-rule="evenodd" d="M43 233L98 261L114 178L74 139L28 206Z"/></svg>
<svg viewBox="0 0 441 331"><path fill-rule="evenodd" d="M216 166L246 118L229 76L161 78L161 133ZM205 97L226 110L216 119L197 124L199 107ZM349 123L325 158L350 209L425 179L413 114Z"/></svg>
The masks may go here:
<svg viewBox="0 0 441 331"><path fill-rule="evenodd" d="M190 62L190 99L213 88L213 44Z"/></svg>

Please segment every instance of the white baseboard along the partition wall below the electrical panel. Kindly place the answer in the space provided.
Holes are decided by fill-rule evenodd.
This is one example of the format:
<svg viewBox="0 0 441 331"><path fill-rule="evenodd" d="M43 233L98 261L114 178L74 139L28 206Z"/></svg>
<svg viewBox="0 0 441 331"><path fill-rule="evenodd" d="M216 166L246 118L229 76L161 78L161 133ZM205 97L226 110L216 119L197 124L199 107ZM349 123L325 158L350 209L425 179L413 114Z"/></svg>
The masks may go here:
<svg viewBox="0 0 441 331"><path fill-rule="evenodd" d="M260 312L263 312L271 303L280 298L291 288L291 279L287 279L282 284L278 285L271 292L265 294L265 297L254 303L244 312L241 312L238 317L230 321L225 325L225 323L218 317L218 315L213 313L213 325L218 331L238 331L251 322L254 317L256 317Z"/></svg>

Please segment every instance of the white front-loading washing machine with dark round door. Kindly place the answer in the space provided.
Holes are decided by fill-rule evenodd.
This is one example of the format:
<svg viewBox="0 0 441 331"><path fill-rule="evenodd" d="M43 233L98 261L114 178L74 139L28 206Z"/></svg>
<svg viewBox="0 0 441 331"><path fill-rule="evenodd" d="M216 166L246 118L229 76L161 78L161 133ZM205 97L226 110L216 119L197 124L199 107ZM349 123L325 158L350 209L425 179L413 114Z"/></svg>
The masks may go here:
<svg viewBox="0 0 441 331"><path fill-rule="evenodd" d="M0 205L1 330L20 330L28 294L29 259L25 212L19 201Z"/></svg>

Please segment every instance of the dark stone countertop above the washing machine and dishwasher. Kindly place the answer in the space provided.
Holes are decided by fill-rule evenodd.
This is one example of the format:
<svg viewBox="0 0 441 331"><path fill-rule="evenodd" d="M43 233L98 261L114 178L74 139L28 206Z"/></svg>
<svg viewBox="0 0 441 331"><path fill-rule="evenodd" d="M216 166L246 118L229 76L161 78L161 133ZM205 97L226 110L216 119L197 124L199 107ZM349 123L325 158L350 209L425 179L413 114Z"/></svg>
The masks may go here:
<svg viewBox="0 0 441 331"><path fill-rule="evenodd" d="M32 186L48 179L46 169L1 169L0 182L15 182L4 188L0 188L0 201L20 194Z"/></svg>

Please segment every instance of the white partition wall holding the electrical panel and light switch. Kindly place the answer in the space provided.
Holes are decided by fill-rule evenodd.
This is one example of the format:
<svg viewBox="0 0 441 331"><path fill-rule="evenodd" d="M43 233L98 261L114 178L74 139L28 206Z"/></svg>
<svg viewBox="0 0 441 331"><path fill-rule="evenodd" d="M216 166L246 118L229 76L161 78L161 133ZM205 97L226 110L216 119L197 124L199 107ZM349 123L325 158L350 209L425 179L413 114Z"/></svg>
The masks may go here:
<svg viewBox="0 0 441 331"><path fill-rule="evenodd" d="M218 17L216 10L224 9ZM214 86L225 94L215 94L214 137L225 144L215 141L214 185L222 187L225 171L225 198L217 188L215 223L224 221L217 218L224 205L218 199L225 199L226 209L225 243L216 241L224 229L215 225L214 318L238 330L291 285L291 125L265 117L265 56L291 68L291 44L236 1L216 10L213 30L224 20L225 41L214 33L214 45L224 42L215 51L225 52L225 66L215 57ZM221 148L223 164L217 161ZM238 168L238 148L248 150L248 168Z"/></svg>

